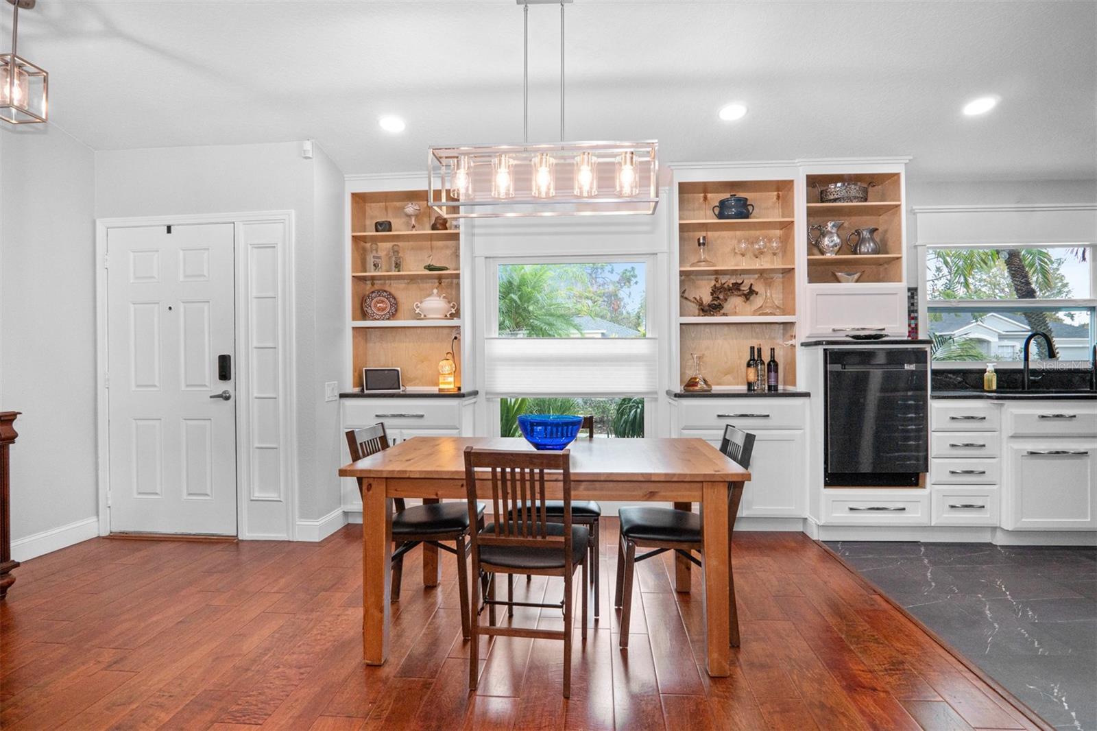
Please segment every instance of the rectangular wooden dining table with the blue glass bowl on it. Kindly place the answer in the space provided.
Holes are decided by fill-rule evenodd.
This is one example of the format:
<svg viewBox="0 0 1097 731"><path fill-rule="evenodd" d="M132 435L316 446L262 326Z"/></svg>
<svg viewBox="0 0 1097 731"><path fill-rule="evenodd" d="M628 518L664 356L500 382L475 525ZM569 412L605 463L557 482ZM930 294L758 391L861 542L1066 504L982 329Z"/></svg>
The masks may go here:
<svg viewBox="0 0 1097 731"><path fill-rule="evenodd" d="M466 447L533 449L514 438L415 437L339 470L340 476L358 479L362 490L362 648L367 664L381 665L388 657L393 498L467 499ZM738 643L731 629L731 531L750 473L702 439L579 439L568 449L574 499L700 504L706 666L710 675L726 676L731 645ZM561 483L547 474L546 480L547 497L558 499ZM477 496L490 498L490 482L477 483ZM689 565L677 558L678 591L689 591ZM437 585L438 566L438 549L423 544L425 584Z"/></svg>

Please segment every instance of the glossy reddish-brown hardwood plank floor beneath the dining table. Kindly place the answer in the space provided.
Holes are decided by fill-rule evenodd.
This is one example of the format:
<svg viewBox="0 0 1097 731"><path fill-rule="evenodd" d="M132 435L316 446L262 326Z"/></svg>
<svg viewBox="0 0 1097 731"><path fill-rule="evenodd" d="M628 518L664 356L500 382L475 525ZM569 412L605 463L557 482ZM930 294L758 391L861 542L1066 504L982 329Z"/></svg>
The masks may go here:
<svg viewBox="0 0 1097 731"><path fill-rule="evenodd" d="M443 561L441 584L423 588L419 549L391 660L365 666L360 526L321 543L86 541L25 562L0 603L0 727L1039 728L799 533L735 535L743 643L730 677L703 671L700 572L676 594L666 555L636 567L621 651L615 528L602 530L603 617L586 643L575 630L569 700L562 643L524 638L483 638L467 693L456 566ZM562 591L516 582L520 599ZM563 623L522 607L510 621Z"/></svg>

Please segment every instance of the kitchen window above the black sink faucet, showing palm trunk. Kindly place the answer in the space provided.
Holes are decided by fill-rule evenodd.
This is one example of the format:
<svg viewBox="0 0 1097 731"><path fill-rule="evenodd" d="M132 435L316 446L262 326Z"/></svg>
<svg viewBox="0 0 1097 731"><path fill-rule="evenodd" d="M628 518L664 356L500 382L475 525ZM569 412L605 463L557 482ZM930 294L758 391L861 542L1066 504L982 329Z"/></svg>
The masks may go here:
<svg viewBox="0 0 1097 731"><path fill-rule="evenodd" d="M935 361L1019 361L1030 333L1060 360L1089 360L1094 246L929 247L926 311ZM1042 339L1033 360L1051 353Z"/></svg>

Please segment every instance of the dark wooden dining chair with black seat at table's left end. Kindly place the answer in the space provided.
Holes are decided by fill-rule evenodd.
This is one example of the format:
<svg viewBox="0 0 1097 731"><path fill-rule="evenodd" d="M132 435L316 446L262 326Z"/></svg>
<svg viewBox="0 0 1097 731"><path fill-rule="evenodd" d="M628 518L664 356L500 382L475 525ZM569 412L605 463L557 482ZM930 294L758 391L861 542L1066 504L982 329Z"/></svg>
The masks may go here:
<svg viewBox="0 0 1097 731"><path fill-rule="evenodd" d="M351 429L347 432L347 446L350 448L352 462L365 459L371 454L388 449L388 435L384 424L375 424L364 429ZM362 494L362 481L358 481L359 496ZM393 498L393 543L392 556L392 589L389 601L400 599L400 580L404 575L404 554L420 543L428 543L457 556L457 594L461 598L461 633L468 638L468 565L466 556L470 546L466 541L470 520L475 521L477 529L484 526L484 505L476 504L475 517L471 517L468 508L462 502L431 503L407 507L403 497ZM440 541L453 541L454 547Z"/></svg>

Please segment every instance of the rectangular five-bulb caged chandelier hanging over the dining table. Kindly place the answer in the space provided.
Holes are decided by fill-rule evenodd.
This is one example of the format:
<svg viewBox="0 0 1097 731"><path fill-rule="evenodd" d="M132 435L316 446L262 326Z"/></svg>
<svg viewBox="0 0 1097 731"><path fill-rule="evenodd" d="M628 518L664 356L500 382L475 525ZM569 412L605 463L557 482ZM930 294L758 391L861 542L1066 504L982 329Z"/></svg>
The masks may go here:
<svg viewBox="0 0 1097 731"><path fill-rule="evenodd" d="M432 145L430 206L449 218L652 214L658 204L658 143L564 140L564 7L522 5L522 143ZM559 138L529 142L530 5L559 4Z"/></svg>

